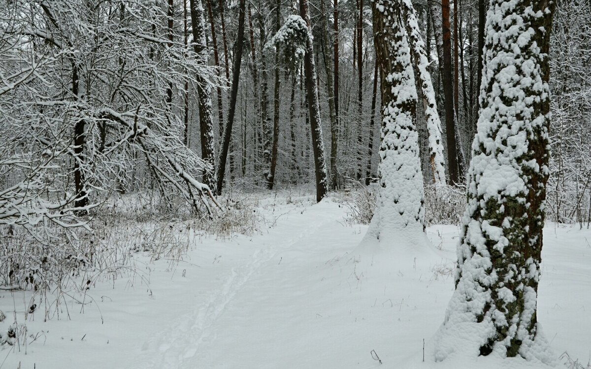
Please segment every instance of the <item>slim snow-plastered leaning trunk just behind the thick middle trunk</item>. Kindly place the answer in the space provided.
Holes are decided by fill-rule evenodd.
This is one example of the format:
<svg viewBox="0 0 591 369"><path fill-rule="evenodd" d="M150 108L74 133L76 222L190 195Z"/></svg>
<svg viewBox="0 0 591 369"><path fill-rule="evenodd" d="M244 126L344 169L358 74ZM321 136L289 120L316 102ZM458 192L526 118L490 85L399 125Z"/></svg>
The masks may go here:
<svg viewBox="0 0 591 369"><path fill-rule="evenodd" d="M425 44L421 37L421 31L418 27L417 12L410 0L404 0L405 19L408 40L414 54L415 68L420 79L421 90L423 92L423 105L425 109L425 118L427 120L427 131L429 134L429 161L433 179L436 185L446 183L445 166L443 157L443 141L441 140L441 120L437 112L437 103L435 102L435 90L431 82L431 74L427 70L429 60Z"/></svg>

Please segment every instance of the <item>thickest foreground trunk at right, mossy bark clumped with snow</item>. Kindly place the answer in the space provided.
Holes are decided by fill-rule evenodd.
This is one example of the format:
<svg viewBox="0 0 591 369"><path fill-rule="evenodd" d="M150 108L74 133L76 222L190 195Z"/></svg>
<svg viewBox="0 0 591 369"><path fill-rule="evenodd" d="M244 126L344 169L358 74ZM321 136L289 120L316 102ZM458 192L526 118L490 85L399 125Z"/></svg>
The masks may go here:
<svg viewBox="0 0 591 369"><path fill-rule="evenodd" d="M490 3L456 290L436 338L436 360L456 351L551 360L536 305L553 9L552 1Z"/></svg>

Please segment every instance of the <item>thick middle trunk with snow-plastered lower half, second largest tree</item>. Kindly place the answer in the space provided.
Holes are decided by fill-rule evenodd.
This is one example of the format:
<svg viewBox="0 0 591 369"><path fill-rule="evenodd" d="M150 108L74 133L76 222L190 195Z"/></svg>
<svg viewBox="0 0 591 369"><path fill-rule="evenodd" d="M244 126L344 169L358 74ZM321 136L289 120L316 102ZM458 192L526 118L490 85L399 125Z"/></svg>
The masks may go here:
<svg viewBox="0 0 591 369"><path fill-rule="evenodd" d="M368 236L379 240L422 234L424 190L415 128L417 90L402 2L376 0L374 43L381 74L382 142L379 191Z"/></svg>

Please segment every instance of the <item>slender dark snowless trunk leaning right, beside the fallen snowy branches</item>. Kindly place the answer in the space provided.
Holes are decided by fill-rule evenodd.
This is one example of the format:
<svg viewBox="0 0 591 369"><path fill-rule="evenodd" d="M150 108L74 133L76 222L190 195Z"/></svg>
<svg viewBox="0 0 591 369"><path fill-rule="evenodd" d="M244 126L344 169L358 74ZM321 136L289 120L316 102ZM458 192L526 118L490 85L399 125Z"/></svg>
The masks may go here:
<svg viewBox="0 0 591 369"><path fill-rule="evenodd" d="M246 0L240 0L238 8L238 35L236 38L236 51L234 54L234 67L232 68L232 91L230 92L230 109L228 110L228 122L223 131L222 150L217 166L217 192L222 193L223 177L226 169L226 157L232 139L232 125L236 112L236 99L238 97L238 84L240 82L240 66L242 64L242 46L244 44L244 22L246 12Z"/></svg>

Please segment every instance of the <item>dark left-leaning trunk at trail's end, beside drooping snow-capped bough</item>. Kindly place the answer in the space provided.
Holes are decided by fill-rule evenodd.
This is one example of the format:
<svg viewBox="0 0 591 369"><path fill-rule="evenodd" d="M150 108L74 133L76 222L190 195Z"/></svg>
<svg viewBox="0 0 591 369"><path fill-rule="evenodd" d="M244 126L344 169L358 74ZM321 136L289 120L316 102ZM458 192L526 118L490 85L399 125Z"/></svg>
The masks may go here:
<svg viewBox="0 0 591 369"><path fill-rule="evenodd" d="M300 16L308 25L306 54L304 55L304 75L306 76L306 95L312 136L312 151L314 152L314 171L316 172L316 201L320 202L326 196L327 191L326 164L324 162L324 142L322 141L320 105L318 102L318 87L316 85L316 66L314 66L314 49L312 47L312 33L310 30L307 0L300 0Z"/></svg>

